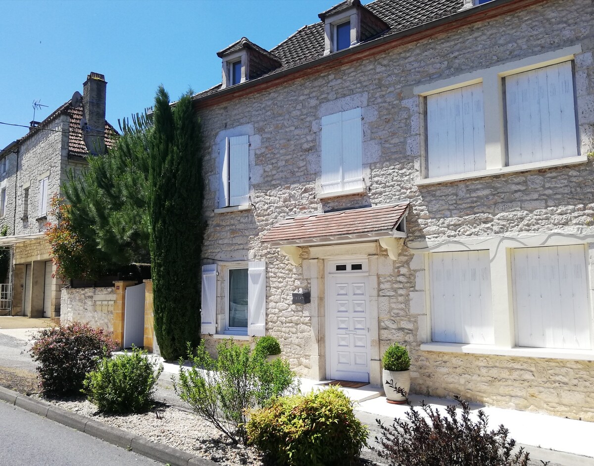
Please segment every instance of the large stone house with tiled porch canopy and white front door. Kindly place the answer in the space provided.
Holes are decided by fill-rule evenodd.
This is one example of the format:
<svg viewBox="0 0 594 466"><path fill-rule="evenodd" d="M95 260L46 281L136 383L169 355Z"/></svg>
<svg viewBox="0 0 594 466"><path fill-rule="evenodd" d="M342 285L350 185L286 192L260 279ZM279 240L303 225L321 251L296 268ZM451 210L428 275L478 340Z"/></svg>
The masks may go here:
<svg viewBox="0 0 594 466"><path fill-rule="evenodd" d="M320 19L219 52L195 96L207 346L269 334L302 376L381 385L399 342L413 392L594 421L592 2Z"/></svg>

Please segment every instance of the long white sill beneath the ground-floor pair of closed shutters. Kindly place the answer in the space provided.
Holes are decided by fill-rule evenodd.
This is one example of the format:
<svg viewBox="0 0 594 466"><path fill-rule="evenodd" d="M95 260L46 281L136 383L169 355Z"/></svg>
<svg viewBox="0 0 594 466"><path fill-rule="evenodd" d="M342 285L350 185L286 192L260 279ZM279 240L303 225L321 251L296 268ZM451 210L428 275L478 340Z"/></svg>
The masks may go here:
<svg viewBox="0 0 594 466"><path fill-rule="evenodd" d="M421 344L421 351L594 361L594 351L592 350L563 350L561 348L500 348L494 345L431 342Z"/></svg>

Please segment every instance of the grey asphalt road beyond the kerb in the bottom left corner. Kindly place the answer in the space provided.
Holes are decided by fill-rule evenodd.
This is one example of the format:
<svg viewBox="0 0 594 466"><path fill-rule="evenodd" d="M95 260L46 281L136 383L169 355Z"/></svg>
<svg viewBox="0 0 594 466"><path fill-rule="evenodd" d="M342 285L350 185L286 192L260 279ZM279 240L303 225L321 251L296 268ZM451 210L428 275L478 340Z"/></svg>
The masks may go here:
<svg viewBox="0 0 594 466"><path fill-rule="evenodd" d="M0 401L2 466L162 466Z"/></svg>

